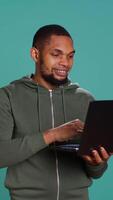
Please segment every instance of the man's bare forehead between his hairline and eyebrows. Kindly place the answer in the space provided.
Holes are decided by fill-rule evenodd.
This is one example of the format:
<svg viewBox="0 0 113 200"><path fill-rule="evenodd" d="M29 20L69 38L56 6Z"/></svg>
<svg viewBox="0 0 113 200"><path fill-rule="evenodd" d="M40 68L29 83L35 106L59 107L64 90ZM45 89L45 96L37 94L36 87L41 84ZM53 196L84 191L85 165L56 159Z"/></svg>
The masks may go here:
<svg viewBox="0 0 113 200"><path fill-rule="evenodd" d="M72 52L74 50L73 41L68 36L52 35L45 45L46 50L59 49L64 52Z"/></svg>

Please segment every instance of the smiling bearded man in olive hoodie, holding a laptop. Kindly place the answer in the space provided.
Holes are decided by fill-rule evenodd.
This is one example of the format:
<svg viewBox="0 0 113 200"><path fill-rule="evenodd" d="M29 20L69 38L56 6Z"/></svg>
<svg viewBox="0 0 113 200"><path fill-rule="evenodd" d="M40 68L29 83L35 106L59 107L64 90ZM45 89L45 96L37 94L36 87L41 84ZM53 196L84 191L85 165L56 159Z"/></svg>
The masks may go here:
<svg viewBox="0 0 113 200"><path fill-rule="evenodd" d="M41 27L31 48L35 73L0 90L0 167L8 167L11 200L88 200L92 178L107 168L103 147L83 157L56 148L79 142L93 100L68 79L74 53L63 27Z"/></svg>

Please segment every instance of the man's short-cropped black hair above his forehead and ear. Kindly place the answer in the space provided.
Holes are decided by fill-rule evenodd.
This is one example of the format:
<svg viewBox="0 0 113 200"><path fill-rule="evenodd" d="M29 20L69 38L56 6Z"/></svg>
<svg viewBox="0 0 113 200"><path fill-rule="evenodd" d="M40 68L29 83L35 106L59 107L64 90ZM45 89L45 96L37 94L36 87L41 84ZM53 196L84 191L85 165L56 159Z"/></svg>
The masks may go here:
<svg viewBox="0 0 113 200"><path fill-rule="evenodd" d="M68 36L72 39L69 32L60 25L57 24L49 24L42 26L40 29L37 30L33 37L33 43L32 47L35 48L42 48L46 41L52 36L52 35L62 35L62 36Z"/></svg>

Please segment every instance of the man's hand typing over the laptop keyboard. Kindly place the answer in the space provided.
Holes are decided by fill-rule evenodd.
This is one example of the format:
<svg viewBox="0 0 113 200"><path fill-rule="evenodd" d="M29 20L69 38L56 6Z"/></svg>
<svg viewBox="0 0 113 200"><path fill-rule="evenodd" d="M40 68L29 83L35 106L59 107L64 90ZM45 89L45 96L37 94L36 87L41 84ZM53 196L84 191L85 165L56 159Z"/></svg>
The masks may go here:
<svg viewBox="0 0 113 200"><path fill-rule="evenodd" d="M75 119L68 123L62 124L56 128L52 128L44 133L46 144L53 142L63 142L72 139L83 131L84 123L79 119Z"/></svg>

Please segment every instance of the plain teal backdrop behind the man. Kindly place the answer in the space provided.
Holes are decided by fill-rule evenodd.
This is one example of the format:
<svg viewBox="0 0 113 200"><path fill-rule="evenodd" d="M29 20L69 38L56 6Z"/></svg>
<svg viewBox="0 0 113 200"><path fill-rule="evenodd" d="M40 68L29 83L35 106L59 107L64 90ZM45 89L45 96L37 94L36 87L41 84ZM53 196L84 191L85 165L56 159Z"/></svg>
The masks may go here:
<svg viewBox="0 0 113 200"><path fill-rule="evenodd" d="M34 71L29 49L35 31L57 23L71 33L76 48L70 77L97 99L113 99L113 0L0 0L0 87ZM0 200L6 169L0 170ZM113 199L113 158L94 180L90 200Z"/></svg>

